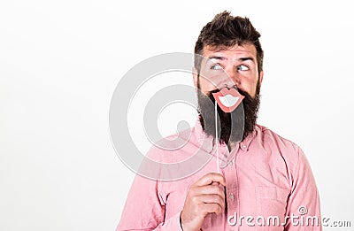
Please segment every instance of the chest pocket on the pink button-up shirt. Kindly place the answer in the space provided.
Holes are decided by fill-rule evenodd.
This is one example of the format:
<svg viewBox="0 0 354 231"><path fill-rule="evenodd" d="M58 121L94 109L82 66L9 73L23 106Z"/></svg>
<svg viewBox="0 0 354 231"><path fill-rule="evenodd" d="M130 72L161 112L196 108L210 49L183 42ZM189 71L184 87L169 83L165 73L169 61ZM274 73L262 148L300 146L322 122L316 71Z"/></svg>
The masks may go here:
<svg viewBox="0 0 354 231"><path fill-rule="evenodd" d="M289 197L288 189L277 187L256 187L257 215L259 223L264 223L263 228L273 227L271 230L283 230L285 212ZM262 227L258 225L258 227ZM266 230L258 228L258 230Z"/></svg>

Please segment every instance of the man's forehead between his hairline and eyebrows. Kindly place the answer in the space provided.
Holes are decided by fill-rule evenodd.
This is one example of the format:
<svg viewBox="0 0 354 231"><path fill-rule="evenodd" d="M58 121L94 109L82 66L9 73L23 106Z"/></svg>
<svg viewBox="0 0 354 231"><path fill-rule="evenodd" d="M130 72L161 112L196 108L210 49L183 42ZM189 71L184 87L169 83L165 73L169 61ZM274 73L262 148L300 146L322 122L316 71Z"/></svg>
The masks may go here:
<svg viewBox="0 0 354 231"><path fill-rule="evenodd" d="M226 57L227 59L237 59L242 57L251 57L257 60L257 50L253 44L235 45L233 47L211 47L205 46L203 56L209 58L212 56Z"/></svg>

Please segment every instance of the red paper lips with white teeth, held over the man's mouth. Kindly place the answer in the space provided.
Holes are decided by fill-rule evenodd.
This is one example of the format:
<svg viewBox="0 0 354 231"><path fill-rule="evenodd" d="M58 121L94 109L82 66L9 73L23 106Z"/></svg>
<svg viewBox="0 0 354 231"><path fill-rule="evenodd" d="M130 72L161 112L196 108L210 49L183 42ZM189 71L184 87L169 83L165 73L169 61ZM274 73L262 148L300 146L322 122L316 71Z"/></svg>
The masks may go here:
<svg viewBox="0 0 354 231"><path fill-rule="evenodd" d="M217 93L212 93L212 96L214 96L215 101L218 102L219 107L224 112L233 112L244 98L236 89L227 88L223 88Z"/></svg>

